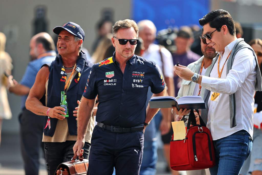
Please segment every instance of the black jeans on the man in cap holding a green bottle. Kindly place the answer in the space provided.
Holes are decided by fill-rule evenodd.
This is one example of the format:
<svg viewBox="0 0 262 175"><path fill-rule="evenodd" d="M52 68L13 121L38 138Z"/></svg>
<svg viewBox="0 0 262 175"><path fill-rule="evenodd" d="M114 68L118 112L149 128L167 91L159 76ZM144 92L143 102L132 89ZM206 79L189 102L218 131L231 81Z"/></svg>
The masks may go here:
<svg viewBox="0 0 262 175"><path fill-rule="evenodd" d="M48 175L53 175L60 163L70 161L74 156L75 141L44 142ZM85 142L84 158L88 158L90 143Z"/></svg>

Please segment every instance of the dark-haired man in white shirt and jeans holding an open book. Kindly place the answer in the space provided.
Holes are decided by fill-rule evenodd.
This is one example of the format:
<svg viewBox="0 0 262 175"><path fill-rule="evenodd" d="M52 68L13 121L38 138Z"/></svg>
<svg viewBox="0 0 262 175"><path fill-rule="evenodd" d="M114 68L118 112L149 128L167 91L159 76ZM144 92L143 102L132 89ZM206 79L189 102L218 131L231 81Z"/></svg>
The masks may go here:
<svg viewBox="0 0 262 175"><path fill-rule="evenodd" d="M194 74L182 65L175 66L175 72L206 89L206 109L201 117L214 140L216 165L209 168L211 175L239 174L252 149L254 94L262 90L258 61L244 39L237 39L227 11L214 10L199 24L206 42L219 53L212 62L210 77ZM188 113L187 109L174 111Z"/></svg>

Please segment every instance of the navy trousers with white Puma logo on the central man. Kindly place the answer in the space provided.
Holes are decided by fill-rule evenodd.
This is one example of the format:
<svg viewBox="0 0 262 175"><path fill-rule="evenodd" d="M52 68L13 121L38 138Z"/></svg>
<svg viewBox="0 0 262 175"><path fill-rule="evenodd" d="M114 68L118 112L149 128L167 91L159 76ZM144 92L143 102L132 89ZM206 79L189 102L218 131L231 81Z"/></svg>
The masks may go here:
<svg viewBox="0 0 262 175"><path fill-rule="evenodd" d="M143 131L113 133L95 126L89 153L89 175L139 174L144 147Z"/></svg>

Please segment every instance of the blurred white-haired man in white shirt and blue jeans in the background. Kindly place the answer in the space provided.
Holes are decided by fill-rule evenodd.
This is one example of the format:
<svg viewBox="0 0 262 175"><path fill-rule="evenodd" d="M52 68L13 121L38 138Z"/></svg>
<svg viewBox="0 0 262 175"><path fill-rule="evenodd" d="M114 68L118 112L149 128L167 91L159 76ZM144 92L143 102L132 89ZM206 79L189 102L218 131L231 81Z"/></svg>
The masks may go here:
<svg viewBox="0 0 262 175"><path fill-rule="evenodd" d="M164 80L167 85L168 95L174 96L174 83L173 83L173 60L171 53L165 48L154 44L156 39L156 26L150 20L142 20L138 23L139 37L144 41L145 51L142 57L149 61L154 61L162 70ZM151 97L152 93L148 91L148 97ZM162 113L162 116L161 116ZM171 111L161 109L161 113L158 112L151 120L150 125L147 127L147 131L144 134L144 153L143 161L140 168L140 175L155 174L156 162L157 162L157 142L156 142L156 130L161 130L162 134L166 134L170 130L170 118ZM161 119L162 118L162 119ZM161 122L160 122L161 121ZM155 123L155 127L154 127ZM167 134L166 134L167 135ZM172 134L164 135L162 140L164 142L163 150L165 152L167 162L169 162L169 150L170 150L170 138ZM166 138L166 139L163 139ZM170 166L168 166L170 167Z"/></svg>

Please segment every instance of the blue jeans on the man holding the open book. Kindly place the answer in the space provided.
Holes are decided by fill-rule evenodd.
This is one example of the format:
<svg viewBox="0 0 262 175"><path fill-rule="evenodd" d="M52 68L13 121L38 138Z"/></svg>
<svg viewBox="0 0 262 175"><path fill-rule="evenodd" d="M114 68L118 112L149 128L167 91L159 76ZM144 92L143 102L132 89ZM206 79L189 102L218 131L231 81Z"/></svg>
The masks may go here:
<svg viewBox="0 0 262 175"><path fill-rule="evenodd" d="M209 168L211 175L239 174L250 155L252 138L245 130L214 140L216 165Z"/></svg>

